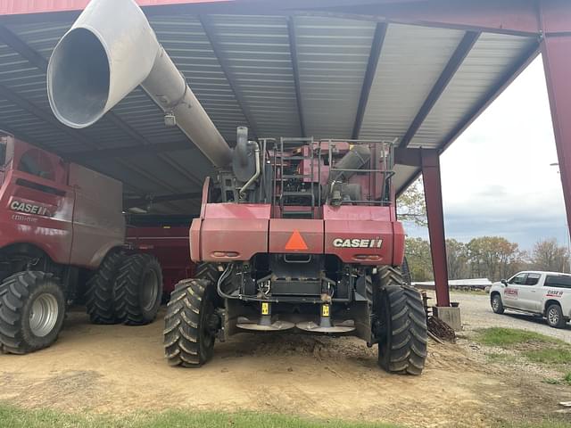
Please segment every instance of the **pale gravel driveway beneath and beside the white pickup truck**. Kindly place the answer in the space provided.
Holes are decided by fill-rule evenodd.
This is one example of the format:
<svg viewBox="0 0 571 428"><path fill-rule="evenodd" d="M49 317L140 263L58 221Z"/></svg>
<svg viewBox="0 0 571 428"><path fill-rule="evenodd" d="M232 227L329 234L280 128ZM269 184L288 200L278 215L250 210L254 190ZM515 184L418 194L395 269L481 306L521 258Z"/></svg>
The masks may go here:
<svg viewBox="0 0 571 428"><path fill-rule="evenodd" d="M557 329L547 325L543 318L518 314L508 309L503 315L494 314L490 308L490 297L487 294L452 292L451 300L459 301L462 324L468 332L485 327L519 328L546 334L571 343L571 325L569 323L567 323L566 328ZM434 300L430 301L433 302Z"/></svg>

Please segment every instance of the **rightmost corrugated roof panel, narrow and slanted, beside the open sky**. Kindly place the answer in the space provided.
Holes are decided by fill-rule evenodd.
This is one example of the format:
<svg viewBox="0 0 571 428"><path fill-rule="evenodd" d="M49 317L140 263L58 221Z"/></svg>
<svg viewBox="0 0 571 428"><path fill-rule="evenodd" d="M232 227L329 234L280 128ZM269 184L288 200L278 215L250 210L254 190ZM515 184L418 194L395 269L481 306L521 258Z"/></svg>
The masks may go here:
<svg viewBox="0 0 571 428"><path fill-rule="evenodd" d="M446 143L443 139L533 43L529 37L482 34L409 146L430 148Z"/></svg>

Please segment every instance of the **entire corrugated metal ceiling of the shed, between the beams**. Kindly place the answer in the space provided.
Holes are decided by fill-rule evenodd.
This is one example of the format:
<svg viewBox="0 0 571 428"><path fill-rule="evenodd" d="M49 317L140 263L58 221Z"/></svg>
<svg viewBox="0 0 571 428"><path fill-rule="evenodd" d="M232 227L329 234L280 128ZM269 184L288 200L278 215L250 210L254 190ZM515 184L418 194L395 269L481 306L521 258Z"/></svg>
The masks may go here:
<svg viewBox="0 0 571 428"><path fill-rule="evenodd" d="M316 16L203 18L211 23L210 36L219 47L219 57L198 17L153 13L151 21L161 43L229 141L236 137L236 126L246 124L247 119L252 119L251 125L257 128L258 136L301 135L288 33L290 19L294 20L307 134L337 138L351 135L376 23ZM9 29L47 59L70 24L49 21L14 24ZM404 135L463 34L454 29L388 26L361 138L392 139ZM487 34L480 37L412 145L428 147L441 143L459 119L467 119L474 105L482 101L528 43L530 39L521 37ZM18 53L0 44L0 84L49 112L45 79L43 71L30 67ZM80 135L101 148L186 140L178 128L165 128L161 111L140 89L128 95L113 112L143 138L130 135L109 118L81 131ZM78 143L73 131L66 132L0 100L0 123L4 120L23 135L60 152L92 149L92 144L86 147ZM124 161L112 159L97 161L95 167L109 169L111 173L119 171L121 179L132 187L163 194L179 188L187 192L201 181L195 176L202 179L211 172L208 161L195 150L158 156L134 153L135 159L138 163L130 169L124 168ZM129 161L133 160L129 157ZM397 171L395 181L399 186L415 169L397 167Z"/></svg>

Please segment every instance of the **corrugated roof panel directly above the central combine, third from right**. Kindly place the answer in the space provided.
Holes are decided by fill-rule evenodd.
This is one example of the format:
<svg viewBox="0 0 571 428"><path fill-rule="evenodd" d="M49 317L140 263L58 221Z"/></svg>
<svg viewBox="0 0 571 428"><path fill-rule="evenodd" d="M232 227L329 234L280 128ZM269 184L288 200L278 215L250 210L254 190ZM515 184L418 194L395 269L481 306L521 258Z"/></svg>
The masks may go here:
<svg viewBox="0 0 571 428"><path fill-rule="evenodd" d="M367 21L295 18L308 136L351 138L375 28Z"/></svg>

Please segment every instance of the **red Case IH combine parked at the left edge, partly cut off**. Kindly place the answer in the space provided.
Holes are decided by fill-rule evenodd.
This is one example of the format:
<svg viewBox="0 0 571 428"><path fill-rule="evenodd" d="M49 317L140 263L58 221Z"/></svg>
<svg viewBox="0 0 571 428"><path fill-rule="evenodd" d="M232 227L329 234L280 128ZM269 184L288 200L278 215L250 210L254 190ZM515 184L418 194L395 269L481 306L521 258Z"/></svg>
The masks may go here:
<svg viewBox="0 0 571 428"><path fill-rule="evenodd" d="M161 267L123 251L122 185L0 136L0 347L51 345L68 302L95 324L144 325L161 302ZM84 285L85 284L85 285Z"/></svg>

